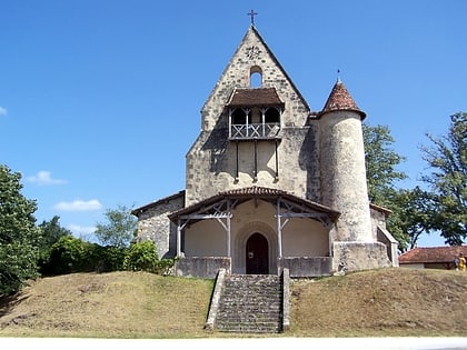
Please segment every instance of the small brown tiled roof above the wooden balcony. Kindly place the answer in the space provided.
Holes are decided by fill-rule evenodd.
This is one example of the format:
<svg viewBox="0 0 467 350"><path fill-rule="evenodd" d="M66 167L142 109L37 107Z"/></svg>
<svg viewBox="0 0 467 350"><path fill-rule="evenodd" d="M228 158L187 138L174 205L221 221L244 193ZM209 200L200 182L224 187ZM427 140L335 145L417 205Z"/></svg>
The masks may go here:
<svg viewBox="0 0 467 350"><path fill-rule="evenodd" d="M235 89L229 107L284 106L275 88Z"/></svg>

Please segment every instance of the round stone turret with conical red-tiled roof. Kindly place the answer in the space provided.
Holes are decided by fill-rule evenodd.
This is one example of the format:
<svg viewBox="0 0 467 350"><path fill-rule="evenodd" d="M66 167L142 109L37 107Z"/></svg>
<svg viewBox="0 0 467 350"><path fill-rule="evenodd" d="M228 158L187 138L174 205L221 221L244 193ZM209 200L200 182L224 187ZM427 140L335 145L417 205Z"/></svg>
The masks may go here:
<svg viewBox="0 0 467 350"><path fill-rule="evenodd" d="M365 117L338 80L319 121L322 203L341 213L335 241L372 241L361 130Z"/></svg>

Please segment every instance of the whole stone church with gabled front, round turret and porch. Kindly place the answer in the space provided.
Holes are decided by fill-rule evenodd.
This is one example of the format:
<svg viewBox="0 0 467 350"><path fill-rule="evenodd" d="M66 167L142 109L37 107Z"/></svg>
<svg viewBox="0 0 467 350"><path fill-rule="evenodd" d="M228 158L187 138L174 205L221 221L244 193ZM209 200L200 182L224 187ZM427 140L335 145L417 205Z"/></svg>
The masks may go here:
<svg viewBox="0 0 467 350"><path fill-rule="evenodd" d="M319 277L398 266L368 200L361 111L337 80L312 111L251 23L201 109L185 189L132 210L177 276Z"/></svg>

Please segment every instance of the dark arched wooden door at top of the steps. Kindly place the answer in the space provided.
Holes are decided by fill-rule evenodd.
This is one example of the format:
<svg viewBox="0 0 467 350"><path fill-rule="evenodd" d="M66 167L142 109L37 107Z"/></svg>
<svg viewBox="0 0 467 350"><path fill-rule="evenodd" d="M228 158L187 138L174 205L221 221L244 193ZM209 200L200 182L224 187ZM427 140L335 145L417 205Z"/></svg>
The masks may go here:
<svg viewBox="0 0 467 350"><path fill-rule="evenodd" d="M269 273L268 250L268 240L261 233L257 232L248 238L246 246L247 274Z"/></svg>

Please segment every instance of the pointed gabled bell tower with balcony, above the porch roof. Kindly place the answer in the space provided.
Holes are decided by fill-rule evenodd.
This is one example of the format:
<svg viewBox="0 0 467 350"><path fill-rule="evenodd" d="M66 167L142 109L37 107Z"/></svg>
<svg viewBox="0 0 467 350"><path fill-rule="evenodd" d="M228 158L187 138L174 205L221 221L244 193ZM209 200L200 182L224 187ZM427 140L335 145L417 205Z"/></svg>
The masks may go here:
<svg viewBox="0 0 467 350"><path fill-rule="evenodd" d="M249 14L251 26L201 109L186 158L186 206L251 186L307 197L310 167L299 150L310 109Z"/></svg>

